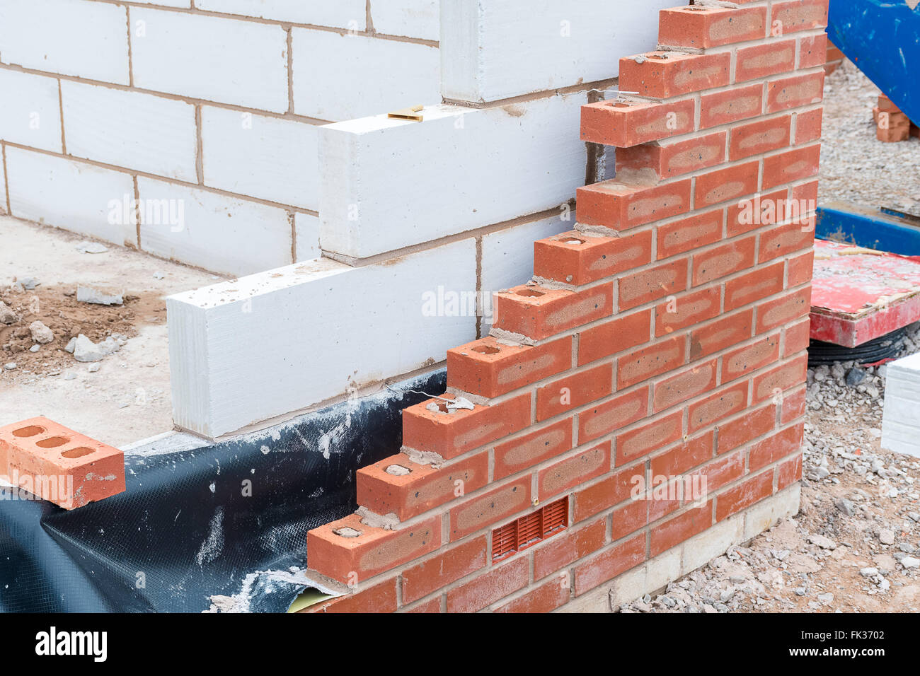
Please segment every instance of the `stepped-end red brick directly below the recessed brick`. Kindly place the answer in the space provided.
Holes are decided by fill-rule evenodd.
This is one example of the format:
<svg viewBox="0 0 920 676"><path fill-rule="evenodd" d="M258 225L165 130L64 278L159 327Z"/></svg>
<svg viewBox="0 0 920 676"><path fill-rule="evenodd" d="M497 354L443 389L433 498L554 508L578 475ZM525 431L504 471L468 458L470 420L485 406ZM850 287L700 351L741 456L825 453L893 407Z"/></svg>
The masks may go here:
<svg viewBox="0 0 920 676"><path fill-rule="evenodd" d="M689 178L660 186L612 178L584 186L576 191L579 223L619 231L686 213L690 184Z"/></svg>

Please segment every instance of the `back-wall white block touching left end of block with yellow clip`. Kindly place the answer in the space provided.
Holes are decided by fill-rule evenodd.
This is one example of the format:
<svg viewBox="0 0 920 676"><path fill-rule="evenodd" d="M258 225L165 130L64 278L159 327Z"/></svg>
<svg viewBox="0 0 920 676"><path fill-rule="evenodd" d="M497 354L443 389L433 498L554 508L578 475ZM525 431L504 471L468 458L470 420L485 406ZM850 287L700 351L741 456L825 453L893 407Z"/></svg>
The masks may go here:
<svg viewBox="0 0 920 676"><path fill-rule="evenodd" d="M316 211L316 137L306 122L204 106L204 184Z"/></svg>

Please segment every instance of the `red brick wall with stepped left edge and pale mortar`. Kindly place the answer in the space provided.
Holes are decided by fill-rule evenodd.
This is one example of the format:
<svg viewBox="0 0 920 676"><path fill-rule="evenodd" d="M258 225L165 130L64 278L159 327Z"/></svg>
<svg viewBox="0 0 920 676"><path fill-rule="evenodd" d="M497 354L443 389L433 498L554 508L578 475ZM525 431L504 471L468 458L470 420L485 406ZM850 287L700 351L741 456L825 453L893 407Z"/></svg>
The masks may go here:
<svg viewBox="0 0 920 676"><path fill-rule="evenodd" d="M813 202L787 217L817 195L827 0L738 4L662 11L661 51L620 63L638 95L584 107L617 178L448 352L475 407L408 407L403 453L358 471L385 528L309 533L352 592L318 610L551 611L799 480ZM493 529L560 498L564 529L492 560Z"/></svg>

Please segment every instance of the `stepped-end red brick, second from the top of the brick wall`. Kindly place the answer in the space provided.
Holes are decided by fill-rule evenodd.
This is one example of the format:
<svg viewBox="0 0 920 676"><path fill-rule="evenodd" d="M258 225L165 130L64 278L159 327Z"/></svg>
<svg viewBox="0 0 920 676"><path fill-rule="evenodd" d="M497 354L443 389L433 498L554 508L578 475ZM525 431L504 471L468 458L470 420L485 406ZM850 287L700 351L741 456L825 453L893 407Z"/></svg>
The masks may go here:
<svg viewBox="0 0 920 676"><path fill-rule="evenodd" d="M637 62L639 58L642 63ZM620 59L620 89L651 98L671 98L729 84L729 52L648 52Z"/></svg>

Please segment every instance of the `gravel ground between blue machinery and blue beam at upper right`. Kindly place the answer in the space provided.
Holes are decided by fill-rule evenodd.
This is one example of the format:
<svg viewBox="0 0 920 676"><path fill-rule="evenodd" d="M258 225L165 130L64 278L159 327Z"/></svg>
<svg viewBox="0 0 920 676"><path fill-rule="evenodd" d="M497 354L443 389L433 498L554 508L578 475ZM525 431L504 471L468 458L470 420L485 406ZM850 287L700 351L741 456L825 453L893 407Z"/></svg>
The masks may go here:
<svg viewBox="0 0 920 676"><path fill-rule="evenodd" d="M850 201L920 216L920 138L876 139L872 107L879 94L849 61L825 81L818 203Z"/></svg>

